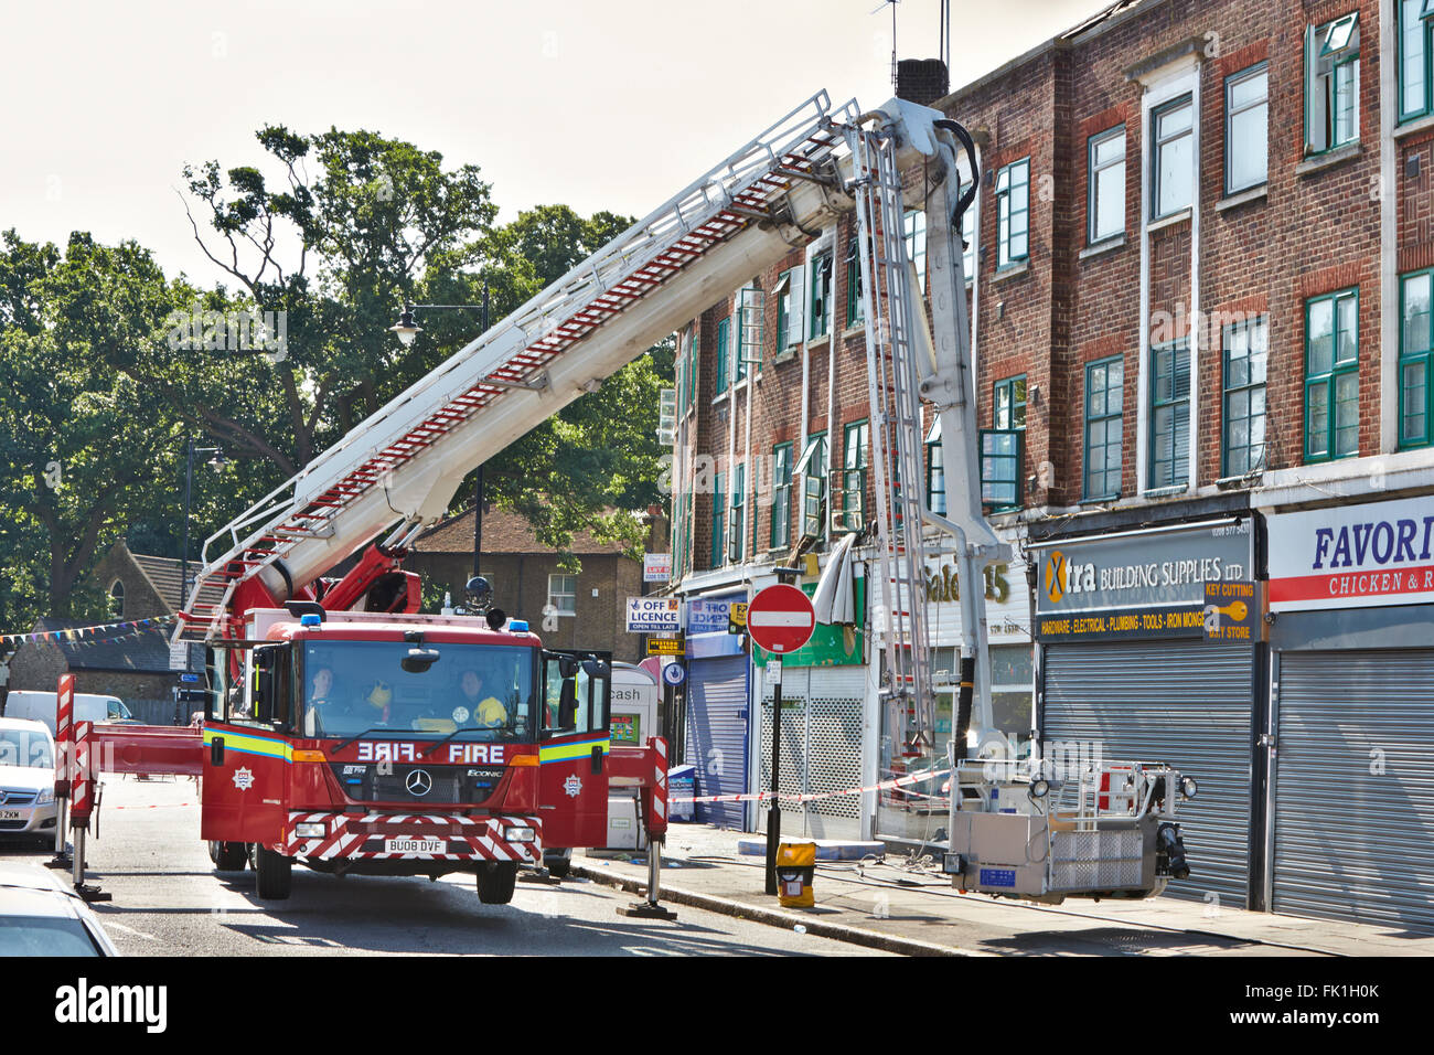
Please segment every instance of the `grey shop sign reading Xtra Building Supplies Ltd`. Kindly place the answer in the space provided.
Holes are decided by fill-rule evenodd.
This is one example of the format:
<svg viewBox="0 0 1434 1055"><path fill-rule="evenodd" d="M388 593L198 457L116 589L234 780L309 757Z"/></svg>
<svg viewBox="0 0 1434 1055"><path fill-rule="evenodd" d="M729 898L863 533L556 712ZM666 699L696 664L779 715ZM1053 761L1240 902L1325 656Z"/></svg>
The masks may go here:
<svg viewBox="0 0 1434 1055"><path fill-rule="evenodd" d="M1045 543L1035 551L1040 554L1035 584L1040 616L1203 609L1206 583L1253 578L1249 521Z"/></svg>

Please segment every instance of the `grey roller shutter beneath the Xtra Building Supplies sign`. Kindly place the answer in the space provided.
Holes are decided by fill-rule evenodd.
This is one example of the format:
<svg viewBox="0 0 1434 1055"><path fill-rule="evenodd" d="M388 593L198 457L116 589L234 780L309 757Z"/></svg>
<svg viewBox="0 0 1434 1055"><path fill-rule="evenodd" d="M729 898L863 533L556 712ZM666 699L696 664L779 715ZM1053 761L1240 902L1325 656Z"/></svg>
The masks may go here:
<svg viewBox="0 0 1434 1055"><path fill-rule="evenodd" d="M1250 679L1248 646L1117 642L1045 649L1047 744L1100 744L1108 759L1164 762L1200 784L1180 804L1190 878L1173 897L1249 894Z"/></svg>

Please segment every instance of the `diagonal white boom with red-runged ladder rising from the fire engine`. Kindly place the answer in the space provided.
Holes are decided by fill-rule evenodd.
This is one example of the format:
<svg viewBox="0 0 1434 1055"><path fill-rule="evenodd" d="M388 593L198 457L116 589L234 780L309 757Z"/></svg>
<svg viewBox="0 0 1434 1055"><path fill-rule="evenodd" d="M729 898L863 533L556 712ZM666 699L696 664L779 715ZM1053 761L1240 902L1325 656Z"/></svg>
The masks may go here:
<svg viewBox="0 0 1434 1055"><path fill-rule="evenodd" d="M403 545L467 472L780 258L835 215L856 116L819 92L209 537L175 639L221 636L250 577L282 599L384 530Z"/></svg>

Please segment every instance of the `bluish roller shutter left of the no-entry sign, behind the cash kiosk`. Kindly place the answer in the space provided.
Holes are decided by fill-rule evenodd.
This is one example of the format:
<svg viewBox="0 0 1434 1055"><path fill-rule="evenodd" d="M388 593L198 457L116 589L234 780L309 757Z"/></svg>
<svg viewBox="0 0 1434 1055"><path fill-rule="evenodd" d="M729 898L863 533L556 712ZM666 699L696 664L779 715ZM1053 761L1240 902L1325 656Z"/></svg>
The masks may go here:
<svg viewBox="0 0 1434 1055"><path fill-rule="evenodd" d="M698 795L747 791L747 657L694 659L688 673L687 761ZM741 802L698 802L697 820L744 828Z"/></svg>

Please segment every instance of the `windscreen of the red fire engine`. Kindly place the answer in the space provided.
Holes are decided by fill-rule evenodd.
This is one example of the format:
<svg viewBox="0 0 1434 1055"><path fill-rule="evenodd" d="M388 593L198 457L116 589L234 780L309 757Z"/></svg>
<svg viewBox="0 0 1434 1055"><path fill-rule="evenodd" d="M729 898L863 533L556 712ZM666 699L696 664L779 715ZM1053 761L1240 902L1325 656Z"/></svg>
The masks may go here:
<svg viewBox="0 0 1434 1055"><path fill-rule="evenodd" d="M304 642L304 736L384 732L465 742L531 739L533 653L492 644L437 644L427 670L404 670L406 642Z"/></svg>

